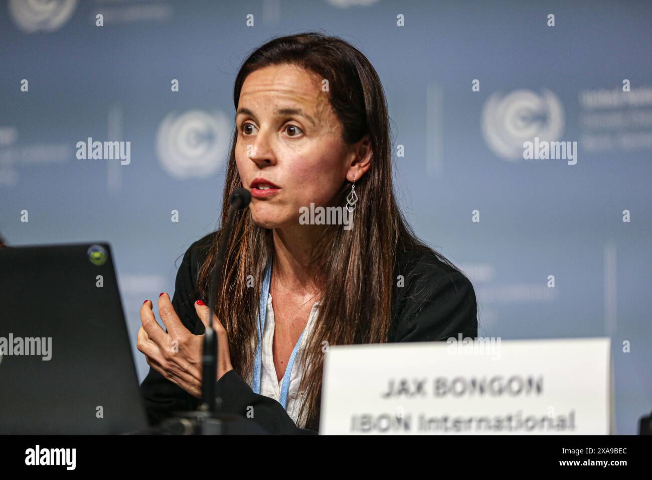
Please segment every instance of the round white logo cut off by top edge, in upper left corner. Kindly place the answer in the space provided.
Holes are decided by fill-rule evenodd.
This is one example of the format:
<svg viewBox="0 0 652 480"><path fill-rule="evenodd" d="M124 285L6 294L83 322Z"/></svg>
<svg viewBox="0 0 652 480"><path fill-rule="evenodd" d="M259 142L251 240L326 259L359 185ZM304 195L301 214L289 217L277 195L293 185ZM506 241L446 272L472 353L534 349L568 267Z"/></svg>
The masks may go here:
<svg viewBox="0 0 652 480"><path fill-rule="evenodd" d="M54 31L68 22L77 0L10 0L14 24L25 33Z"/></svg>

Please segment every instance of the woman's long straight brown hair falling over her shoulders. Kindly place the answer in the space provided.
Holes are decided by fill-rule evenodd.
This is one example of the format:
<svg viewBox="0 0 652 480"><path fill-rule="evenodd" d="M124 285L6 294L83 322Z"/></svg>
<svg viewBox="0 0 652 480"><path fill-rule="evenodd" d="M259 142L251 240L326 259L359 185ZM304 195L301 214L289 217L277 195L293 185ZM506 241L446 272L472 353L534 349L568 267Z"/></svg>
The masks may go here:
<svg viewBox="0 0 652 480"><path fill-rule="evenodd" d="M342 123L343 140L353 144L369 135L373 150L371 166L355 182L359 201L352 228L325 225L310 262L319 272L321 296L316 322L304 350L304 372L300 391L304 400L299 419L316 430L321 401L324 345L387 342L392 323L393 279L399 250L426 249L453 266L418 240L394 199L391 163L391 131L385 93L378 73L357 48L337 37L308 32L270 40L250 54L241 66L233 87L233 105L238 108L240 91L248 74L269 65L297 65L329 81L329 102ZM231 192L243 187L235 163L237 129L222 195L222 225L226 222ZM346 203L351 184L346 180L336 205ZM298 213L298 212L297 212ZM200 268L199 289L207 291L221 231ZM229 336L231 364L246 377L252 370L258 342L257 321L260 285L273 252L272 231L256 225L248 209L235 220L228 238L224 274L218 285L216 315ZM256 288L247 287L253 276ZM324 343L327 342L327 344Z"/></svg>

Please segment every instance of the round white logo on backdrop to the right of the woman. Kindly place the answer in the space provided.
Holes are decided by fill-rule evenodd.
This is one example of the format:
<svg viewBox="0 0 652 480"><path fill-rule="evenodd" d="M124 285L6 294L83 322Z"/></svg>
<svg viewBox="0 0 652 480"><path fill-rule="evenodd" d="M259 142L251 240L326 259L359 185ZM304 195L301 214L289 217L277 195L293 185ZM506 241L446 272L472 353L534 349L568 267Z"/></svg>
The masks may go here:
<svg viewBox="0 0 652 480"><path fill-rule="evenodd" d="M482 135L499 157L523 159L523 144L535 136L556 141L564 129L564 108L548 89L541 94L527 89L514 90L503 97L493 93L482 108Z"/></svg>

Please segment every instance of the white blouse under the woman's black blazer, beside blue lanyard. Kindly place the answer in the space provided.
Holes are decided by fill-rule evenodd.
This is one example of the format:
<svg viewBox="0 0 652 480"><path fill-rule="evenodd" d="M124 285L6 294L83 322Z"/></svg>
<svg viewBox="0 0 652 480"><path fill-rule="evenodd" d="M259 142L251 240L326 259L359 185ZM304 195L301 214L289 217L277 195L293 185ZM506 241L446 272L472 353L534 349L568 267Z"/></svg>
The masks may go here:
<svg viewBox="0 0 652 480"><path fill-rule="evenodd" d="M288 390L288 404L286 405L286 411L294 423L299 427L303 428L305 425L305 419L299 421L299 409L301 408L301 402L303 401L304 392L297 394L299 391L299 384L301 383L301 377L303 376L304 368L304 355L303 351L310 338L310 332L314 327L314 323L317 319L317 314L319 311L319 301L315 302L312 305L312 310L310 310L310 316L308 317L308 323L306 324L306 330L303 334L303 339L301 340L301 345L299 345L299 351L297 351L297 357L294 359L294 365L289 379L289 390ZM273 344L274 344L274 309L272 307L272 294L267 295L267 317L265 318L265 330L263 331L263 348L262 348L262 358L261 358L261 375L260 375L260 394L274 398L274 400L280 399L281 387L283 385L283 377L280 381L276 380L276 368L274 367L274 354L273 354ZM255 344L254 344L255 345ZM250 387L253 388L254 383L254 374L251 372L246 379L246 382ZM254 412L254 415L256 413Z"/></svg>

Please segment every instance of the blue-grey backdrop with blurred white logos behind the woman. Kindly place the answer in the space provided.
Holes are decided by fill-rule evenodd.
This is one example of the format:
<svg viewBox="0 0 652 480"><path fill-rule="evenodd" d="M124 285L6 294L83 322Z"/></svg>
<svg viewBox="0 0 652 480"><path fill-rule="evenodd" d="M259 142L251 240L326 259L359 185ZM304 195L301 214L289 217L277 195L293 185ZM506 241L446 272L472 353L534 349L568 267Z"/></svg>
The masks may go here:
<svg viewBox="0 0 652 480"><path fill-rule="evenodd" d="M473 281L481 335L610 336L632 434L652 409L650 18L649 1L3 2L0 232L111 243L142 379L140 306L216 226L239 65L320 29L378 70L401 206ZM577 142L577 162L525 160L534 136ZM130 142L130 163L78 159L89 137Z"/></svg>

